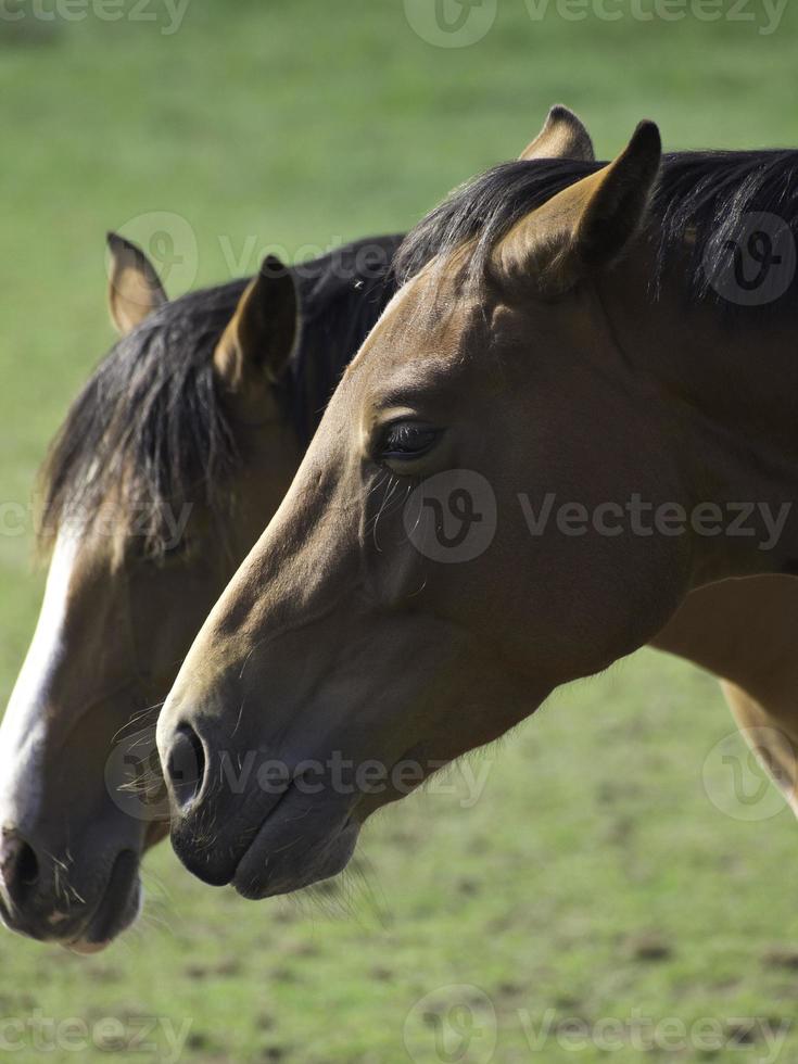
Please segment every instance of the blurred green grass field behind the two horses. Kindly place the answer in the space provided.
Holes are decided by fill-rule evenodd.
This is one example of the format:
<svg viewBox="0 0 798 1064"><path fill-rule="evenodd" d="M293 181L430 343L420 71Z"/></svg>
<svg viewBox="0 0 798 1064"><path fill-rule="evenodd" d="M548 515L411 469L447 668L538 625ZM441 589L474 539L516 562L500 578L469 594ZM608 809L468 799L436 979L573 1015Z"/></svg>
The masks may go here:
<svg viewBox="0 0 798 1064"><path fill-rule="evenodd" d="M798 143L795 5L768 35L755 0L755 21L531 9L498 0L454 49L400 0L192 0L169 35L157 0L155 23L0 17L0 503L29 497L112 340L107 228L178 253L178 294L266 246L410 226L557 101L604 156L642 117L668 148ZM41 593L30 548L29 528L0 535L0 705ZM468 762L487 773L471 808L430 793L382 814L335 891L246 903L164 847L142 923L107 953L0 937L0 1057L2 1021L22 1018L25 1061L67 1019L96 1047L69 1050L64 1028L50 1061L169 1060L185 1023L181 1059L200 1062L798 1061L798 826L725 801L735 763L750 770L739 739L718 753L732 731L713 681L644 650ZM119 1022L145 1017L155 1043L119 1048Z"/></svg>

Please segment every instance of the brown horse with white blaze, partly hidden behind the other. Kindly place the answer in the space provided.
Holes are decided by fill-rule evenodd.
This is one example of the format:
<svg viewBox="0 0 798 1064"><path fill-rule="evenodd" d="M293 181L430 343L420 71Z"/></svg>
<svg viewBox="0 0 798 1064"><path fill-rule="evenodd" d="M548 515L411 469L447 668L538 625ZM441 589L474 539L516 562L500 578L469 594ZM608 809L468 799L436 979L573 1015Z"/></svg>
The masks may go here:
<svg viewBox="0 0 798 1064"><path fill-rule="evenodd" d="M141 856L168 831L159 796L130 789L157 764L155 714L384 306L398 239L174 302L140 250L110 244L122 339L43 471L54 549L0 729L0 917L84 952L139 910Z"/></svg>

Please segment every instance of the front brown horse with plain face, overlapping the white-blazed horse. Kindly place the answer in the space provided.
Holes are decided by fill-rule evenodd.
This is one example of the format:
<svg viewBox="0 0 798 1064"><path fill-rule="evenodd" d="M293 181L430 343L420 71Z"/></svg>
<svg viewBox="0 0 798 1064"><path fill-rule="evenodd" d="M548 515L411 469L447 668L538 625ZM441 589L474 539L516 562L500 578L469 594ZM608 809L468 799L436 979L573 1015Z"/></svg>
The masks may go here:
<svg viewBox="0 0 798 1064"><path fill-rule="evenodd" d="M410 236L161 714L194 873L248 897L334 874L371 812L555 687L669 622L679 648L691 592L795 571L797 167L663 161L644 123L609 165L498 167Z"/></svg>

